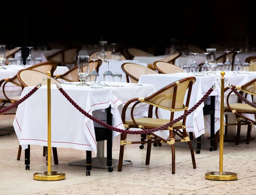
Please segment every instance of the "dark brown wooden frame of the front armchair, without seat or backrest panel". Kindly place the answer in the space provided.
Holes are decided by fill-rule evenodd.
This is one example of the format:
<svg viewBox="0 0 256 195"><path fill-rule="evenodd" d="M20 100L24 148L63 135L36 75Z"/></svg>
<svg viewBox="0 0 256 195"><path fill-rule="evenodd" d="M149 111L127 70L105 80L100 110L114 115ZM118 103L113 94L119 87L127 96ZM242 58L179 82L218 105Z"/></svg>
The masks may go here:
<svg viewBox="0 0 256 195"><path fill-rule="evenodd" d="M142 103L142 102L150 104L150 106L148 108L148 118L152 118L152 116L153 116L153 107L155 106L156 107L155 113L156 113L157 118L158 118L157 109L162 108L162 109L172 110L170 121L174 120L177 86L180 83L183 83L185 81L189 81L188 87L186 89L186 90L188 90L188 95L187 95L187 98L186 98L186 105L183 105L183 109L176 109L176 111L184 110L184 113L186 113L187 110L188 110L188 106L189 106L189 100L190 100L190 96L191 96L191 92L192 92L192 85L193 85L193 83L195 83L195 80L196 80L195 77L187 77L187 78L178 80L178 81L160 89L159 91L155 92L154 94L152 94L148 97L144 97L143 100L141 98L133 98L133 99L129 100L127 103L125 103L125 105L122 109L122 116L121 116L122 117L122 122L123 122L126 130L129 130L130 128L140 128L140 129L143 129L143 130L154 128L154 126L145 126L145 125L142 126L142 125L140 125L139 123L136 122L136 119L134 119L134 113L133 113L134 108L135 108L135 106L137 106L139 103ZM150 100L153 97L156 97L160 93L162 93L162 92L164 92L164 91L166 91L167 89L170 89L170 88L174 88L173 97L172 97L173 98L172 99L172 108L171 109L163 107L163 106L159 106L159 105L156 105L154 103L150 103L150 102L147 101L147 100ZM134 102L136 102L136 103L134 103ZM134 124L133 125L131 125L131 124L127 125L127 124L125 124L125 115L126 115L126 110L127 110L128 106L131 103L134 103L134 105L131 108L131 119L132 119ZM181 132L180 129L183 129L183 132ZM186 132L186 118L183 119L181 126L170 126L170 127L166 128L166 130L169 130L169 133L170 133L170 140L169 141L166 140L166 139L161 138L160 136L158 136L154 133L151 133L147 136L148 141L126 142L127 134L122 133L121 134L118 171L122 171L124 146L126 145L125 143L128 143L128 144L147 143L147 155L146 155L146 162L145 162L146 165L148 165L149 162L150 162L151 143L168 143L169 145L171 145L171 148L172 148L172 174L174 174L175 173L175 147L174 147L173 143L170 143L170 142L173 142L173 141L175 141L175 142L186 141L189 144L189 149L190 149L191 157L192 157L192 164L193 164L193 168L195 169L196 168L195 155L194 155L194 150L193 150L192 144L191 144L191 142L189 140L189 137L187 135L187 132ZM154 136L154 138L151 137L152 135ZM182 139L181 140L180 139L175 140L175 135L178 135ZM154 139L154 141L152 141L152 139ZM122 143L124 143L124 144L122 144Z"/></svg>

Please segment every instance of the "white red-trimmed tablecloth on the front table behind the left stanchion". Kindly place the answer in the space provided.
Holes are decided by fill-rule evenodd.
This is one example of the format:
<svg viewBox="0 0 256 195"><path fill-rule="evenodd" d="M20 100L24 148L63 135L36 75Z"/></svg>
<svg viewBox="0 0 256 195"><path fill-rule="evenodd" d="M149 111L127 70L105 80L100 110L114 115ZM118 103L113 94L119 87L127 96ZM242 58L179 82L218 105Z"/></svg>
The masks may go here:
<svg viewBox="0 0 256 195"><path fill-rule="evenodd" d="M109 84L109 83L108 83ZM112 83L113 84L113 83ZM136 86L122 83L127 87L103 87L91 89L70 84L61 84L62 88L86 112L97 116L96 111L105 112L111 106L112 126L124 129L120 111L124 103L134 97L145 97L155 92L153 85ZM24 88L26 95L33 87ZM55 85L51 90L52 104L52 147L66 147L96 152L96 138L93 121L84 117L58 91ZM136 117L147 116L147 104L140 104L135 110ZM95 111L95 112L93 112ZM127 112L128 115L130 112ZM42 86L18 106L14 128L23 149L28 144L47 146L47 86ZM118 135L114 132L113 137Z"/></svg>

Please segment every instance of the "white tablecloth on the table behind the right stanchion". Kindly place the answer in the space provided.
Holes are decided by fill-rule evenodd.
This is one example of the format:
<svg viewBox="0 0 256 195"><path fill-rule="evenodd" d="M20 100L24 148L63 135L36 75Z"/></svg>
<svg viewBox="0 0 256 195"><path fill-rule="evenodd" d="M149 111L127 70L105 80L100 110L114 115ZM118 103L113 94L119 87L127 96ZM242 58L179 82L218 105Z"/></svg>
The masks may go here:
<svg viewBox="0 0 256 195"><path fill-rule="evenodd" d="M234 75L233 72L227 72L225 75L226 78L232 83L233 85L243 85L250 80L256 78L256 72L250 72L253 74L247 75L247 74L237 74ZM218 72L217 75L220 75ZM183 79L185 77L194 76L192 74L188 73L176 73L176 74L156 74L156 75L141 75L139 83L147 83L147 84L153 84L156 87L156 90L159 90L163 88L164 86L167 86L176 80ZM213 81L215 80L215 76L203 76L203 77L197 77L196 76L196 82L194 83L192 87L192 94L190 97L189 102L189 109L194 106L201 97L204 96L204 94L208 91L208 89L213 84ZM225 86L227 84L225 83ZM225 93L225 95L227 95ZM215 96L215 132L218 131L220 127L220 85L216 86L216 88L211 93L211 96ZM237 98L236 98L237 99ZM235 100L234 100L235 101ZM185 103L185 102L184 102ZM195 132L195 136L198 137L205 132L204 128L204 114L203 114L203 107L204 103L202 103L192 114L190 114L186 119L186 130L189 132ZM169 119L170 118L170 112L166 110L161 110L163 114L163 118ZM175 118L182 115L183 112L175 112ZM210 130L210 123L209 123L210 116L207 116L207 121L205 121L206 129ZM163 136L163 135L162 135ZM168 137L168 133L166 133L166 138Z"/></svg>

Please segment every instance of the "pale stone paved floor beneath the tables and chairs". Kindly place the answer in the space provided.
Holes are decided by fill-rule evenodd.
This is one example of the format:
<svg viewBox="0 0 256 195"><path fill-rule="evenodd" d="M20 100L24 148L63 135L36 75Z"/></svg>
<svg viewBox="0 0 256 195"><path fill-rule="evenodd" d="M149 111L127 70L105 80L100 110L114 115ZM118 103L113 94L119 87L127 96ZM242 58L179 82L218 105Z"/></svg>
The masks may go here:
<svg viewBox="0 0 256 195"><path fill-rule="evenodd" d="M13 116L0 116L0 128L11 126L12 122ZM245 133L243 130L242 134ZM252 135L256 135L254 127ZM128 140L131 138L140 140L136 135L128 136ZM206 172L218 171L219 150L201 149L201 154L195 154L197 169L193 169L189 148L175 145L176 173L172 175L169 145L152 147L151 163L145 165L146 148L141 150L134 144L126 146L124 157L133 165L124 166L122 172L116 167L113 172L93 168L91 176L85 175L85 167L68 165L86 158L85 151L58 148L59 164L52 165L52 170L65 172L66 179L46 182L33 180L34 172L47 171L43 147L31 146L30 170L25 170L24 151L20 161L16 160L19 143L12 132L0 136L0 195L256 194L256 140L251 140L250 144L241 142L238 146L234 142L227 143L224 171L236 172L237 181L204 179ZM119 137L113 143L113 158L118 156Z"/></svg>

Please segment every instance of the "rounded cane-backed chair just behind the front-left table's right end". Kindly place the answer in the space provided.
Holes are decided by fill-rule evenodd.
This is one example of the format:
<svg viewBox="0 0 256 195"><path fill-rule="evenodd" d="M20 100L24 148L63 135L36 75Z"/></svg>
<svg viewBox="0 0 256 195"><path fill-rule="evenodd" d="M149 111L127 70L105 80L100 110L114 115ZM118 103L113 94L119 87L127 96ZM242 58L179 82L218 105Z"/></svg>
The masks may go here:
<svg viewBox="0 0 256 195"><path fill-rule="evenodd" d="M140 75L158 74L154 70L136 63L123 63L121 68L125 72L127 83L130 83L129 78L131 83L138 83Z"/></svg>

